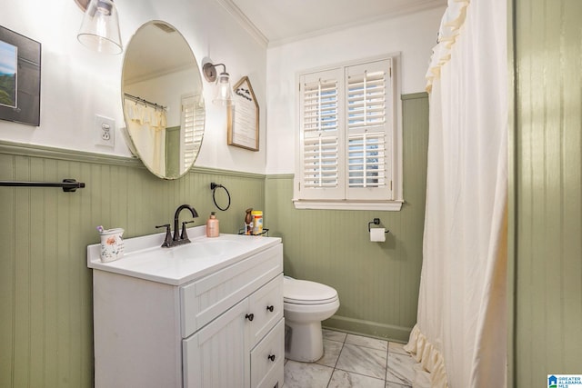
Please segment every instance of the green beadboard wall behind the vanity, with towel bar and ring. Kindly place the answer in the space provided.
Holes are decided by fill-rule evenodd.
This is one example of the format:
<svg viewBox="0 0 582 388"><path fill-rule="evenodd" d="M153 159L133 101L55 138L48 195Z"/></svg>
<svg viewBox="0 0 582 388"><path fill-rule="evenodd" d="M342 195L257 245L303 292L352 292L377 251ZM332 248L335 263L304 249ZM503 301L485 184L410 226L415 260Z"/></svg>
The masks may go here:
<svg viewBox="0 0 582 388"><path fill-rule="evenodd" d="M0 187L0 387L93 386L86 245L98 243L96 225L123 227L125 237L155 234L179 204L192 204L195 225L216 211L221 232L236 233L245 209L265 204L264 175L194 168L164 181L127 158L0 143L0 181L64 178L86 187ZM211 182L230 192L226 212L213 204ZM222 192L216 200L226 205Z"/></svg>

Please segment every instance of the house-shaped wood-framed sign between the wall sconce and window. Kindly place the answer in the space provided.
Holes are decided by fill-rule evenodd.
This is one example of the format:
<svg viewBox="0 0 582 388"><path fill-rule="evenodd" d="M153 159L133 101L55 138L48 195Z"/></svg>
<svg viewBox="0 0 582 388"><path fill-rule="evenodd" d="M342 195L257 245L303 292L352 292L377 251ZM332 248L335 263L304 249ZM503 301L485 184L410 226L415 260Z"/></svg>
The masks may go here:
<svg viewBox="0 0 582 388"><path fill-rule="evenodd" d="M258 151L258 102L248 77L233 87L234 106L228 107L228 145Z"/></svg>

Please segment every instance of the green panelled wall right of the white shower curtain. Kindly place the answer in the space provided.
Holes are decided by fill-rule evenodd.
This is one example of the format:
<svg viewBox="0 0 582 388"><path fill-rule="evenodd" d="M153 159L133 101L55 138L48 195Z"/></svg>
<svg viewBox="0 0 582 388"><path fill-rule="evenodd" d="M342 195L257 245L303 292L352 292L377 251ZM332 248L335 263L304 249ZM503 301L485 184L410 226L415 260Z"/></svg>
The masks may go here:
<svg viewBox="0 0 582 388"><path fill-rule="evenodd" d="M548 373L582 373L582 2L511 6L509 385L545 387Z"/></svg>

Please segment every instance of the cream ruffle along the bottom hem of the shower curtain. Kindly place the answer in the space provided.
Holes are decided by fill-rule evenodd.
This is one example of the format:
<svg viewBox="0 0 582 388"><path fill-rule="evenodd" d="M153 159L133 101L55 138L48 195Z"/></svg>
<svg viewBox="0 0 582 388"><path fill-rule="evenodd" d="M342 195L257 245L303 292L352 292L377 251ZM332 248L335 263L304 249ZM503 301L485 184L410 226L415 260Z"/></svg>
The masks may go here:
<svg viewBox="0 0 582 388"><path fill-rule="evenodd" d="M426 339L426 336L420 332L418 325L412 328L410 339L404 346L408 353L420 363L422 367L430 373L431 387L447 388L447 369L443 354Z"/></svg>

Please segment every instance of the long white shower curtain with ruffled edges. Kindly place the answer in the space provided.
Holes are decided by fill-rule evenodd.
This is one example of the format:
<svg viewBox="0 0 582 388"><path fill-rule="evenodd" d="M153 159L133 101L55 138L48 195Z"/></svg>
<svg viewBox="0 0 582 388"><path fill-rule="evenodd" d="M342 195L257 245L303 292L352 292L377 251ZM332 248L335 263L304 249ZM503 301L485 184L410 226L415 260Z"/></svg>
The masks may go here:
<svg viewBox="0 0 582 388"><path fill-rule="evenodd" d="M507 1L449 0L427 78L423 266L406 344L436 387L504 387Z"/></svg>

